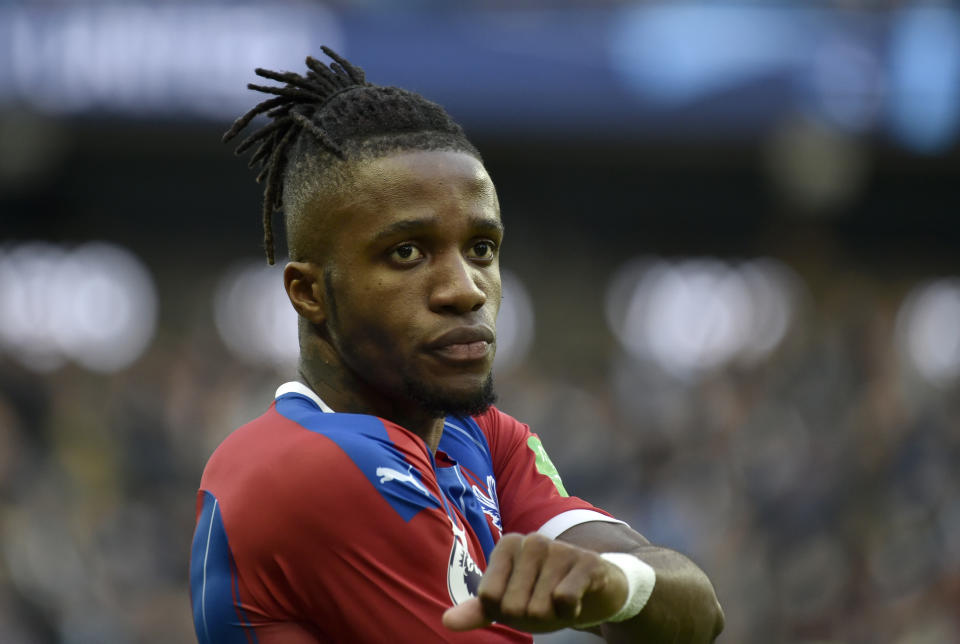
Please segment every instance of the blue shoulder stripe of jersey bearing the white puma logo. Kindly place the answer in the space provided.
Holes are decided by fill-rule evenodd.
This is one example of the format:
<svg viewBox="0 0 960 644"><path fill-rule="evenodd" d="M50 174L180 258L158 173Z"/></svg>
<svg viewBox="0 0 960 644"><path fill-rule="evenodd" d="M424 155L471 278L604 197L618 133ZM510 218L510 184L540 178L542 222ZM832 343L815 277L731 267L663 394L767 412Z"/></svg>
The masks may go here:
<svg viewBox="0 0 960 644"><path fill-rule="evenodd" d="M296 393L277 398L276 409L284 418L336 443L404 521L424 508L444 507L376 416L325 414L312 400Z"/></svg>

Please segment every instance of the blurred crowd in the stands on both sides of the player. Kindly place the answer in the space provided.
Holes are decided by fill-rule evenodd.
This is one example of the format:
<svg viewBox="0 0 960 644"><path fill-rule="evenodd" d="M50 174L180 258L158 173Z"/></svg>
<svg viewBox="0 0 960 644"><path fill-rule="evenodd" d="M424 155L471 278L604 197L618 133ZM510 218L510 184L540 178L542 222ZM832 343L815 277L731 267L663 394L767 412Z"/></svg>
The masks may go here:
<svg viewBox="0 0 960 644"><path fill-rule="evenodd" d="M960 641L960 396L893 349L896 287L808 283L765 361L678 379L628 357L599 311L565 324L527 282L540 335L592 357L535 347L499 377L499 406L571 493L707 571L721 642ZM0 362L0 642L192 641L203 464L293 375L237 362L201 308L115 375Z"/></svg>

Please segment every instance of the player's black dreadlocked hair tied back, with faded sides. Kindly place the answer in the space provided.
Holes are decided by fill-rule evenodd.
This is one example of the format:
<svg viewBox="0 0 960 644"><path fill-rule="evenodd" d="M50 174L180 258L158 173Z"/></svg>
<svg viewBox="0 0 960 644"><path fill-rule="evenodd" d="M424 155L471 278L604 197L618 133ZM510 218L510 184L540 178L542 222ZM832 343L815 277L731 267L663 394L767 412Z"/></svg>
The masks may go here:
<svg viewBox="0 0 960 644"><path fill-rule="evenodd" d="M274 95L238 118L224 135L226 143L259 114L271 121L243 139L240 155L254 145L248 167L260 165L257 183L263 191L263 243L267 262L274 263L272 217L290 208L284 202L304 200L311 190L336 189L336 168L345 161L382 156L399 150L451 149L480 159L463 129L436 103L397 87L368 83L362 69L328 47L321 48L333 62L327 67L307 57L306 76L257 68L263 78L285 83L282 87L247 85Z"/></svg>

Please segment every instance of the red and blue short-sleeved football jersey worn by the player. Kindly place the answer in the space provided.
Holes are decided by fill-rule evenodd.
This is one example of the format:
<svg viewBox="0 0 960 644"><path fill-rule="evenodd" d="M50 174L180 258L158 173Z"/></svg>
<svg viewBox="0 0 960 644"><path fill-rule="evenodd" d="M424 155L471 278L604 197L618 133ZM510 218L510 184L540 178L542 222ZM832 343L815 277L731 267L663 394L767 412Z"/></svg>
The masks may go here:
<svg viewBox="0 0 960 644"><path fill-rule="evenodd" d="M200 643L530 642L498 624L454 633L441 616L475 594L502 533L615 521L566 496L545 458L493 407L448 417L433 454L399 425L283 385L203 473L190 563Z"/></svg>

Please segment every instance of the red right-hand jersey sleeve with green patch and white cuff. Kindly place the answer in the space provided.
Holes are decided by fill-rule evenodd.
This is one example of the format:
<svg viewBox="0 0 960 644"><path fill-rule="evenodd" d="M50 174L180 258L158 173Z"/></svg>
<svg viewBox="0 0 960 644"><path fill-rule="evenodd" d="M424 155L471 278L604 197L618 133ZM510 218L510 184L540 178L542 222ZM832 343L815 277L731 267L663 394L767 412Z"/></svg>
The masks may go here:
<svg viewBox="0 0 960 644"><path fill-rule="evenodd" d="M540 437L496 407L475 417L487 436L504 532L541 532L555 538L588 521L623 523L570 496Z"/></svg>

